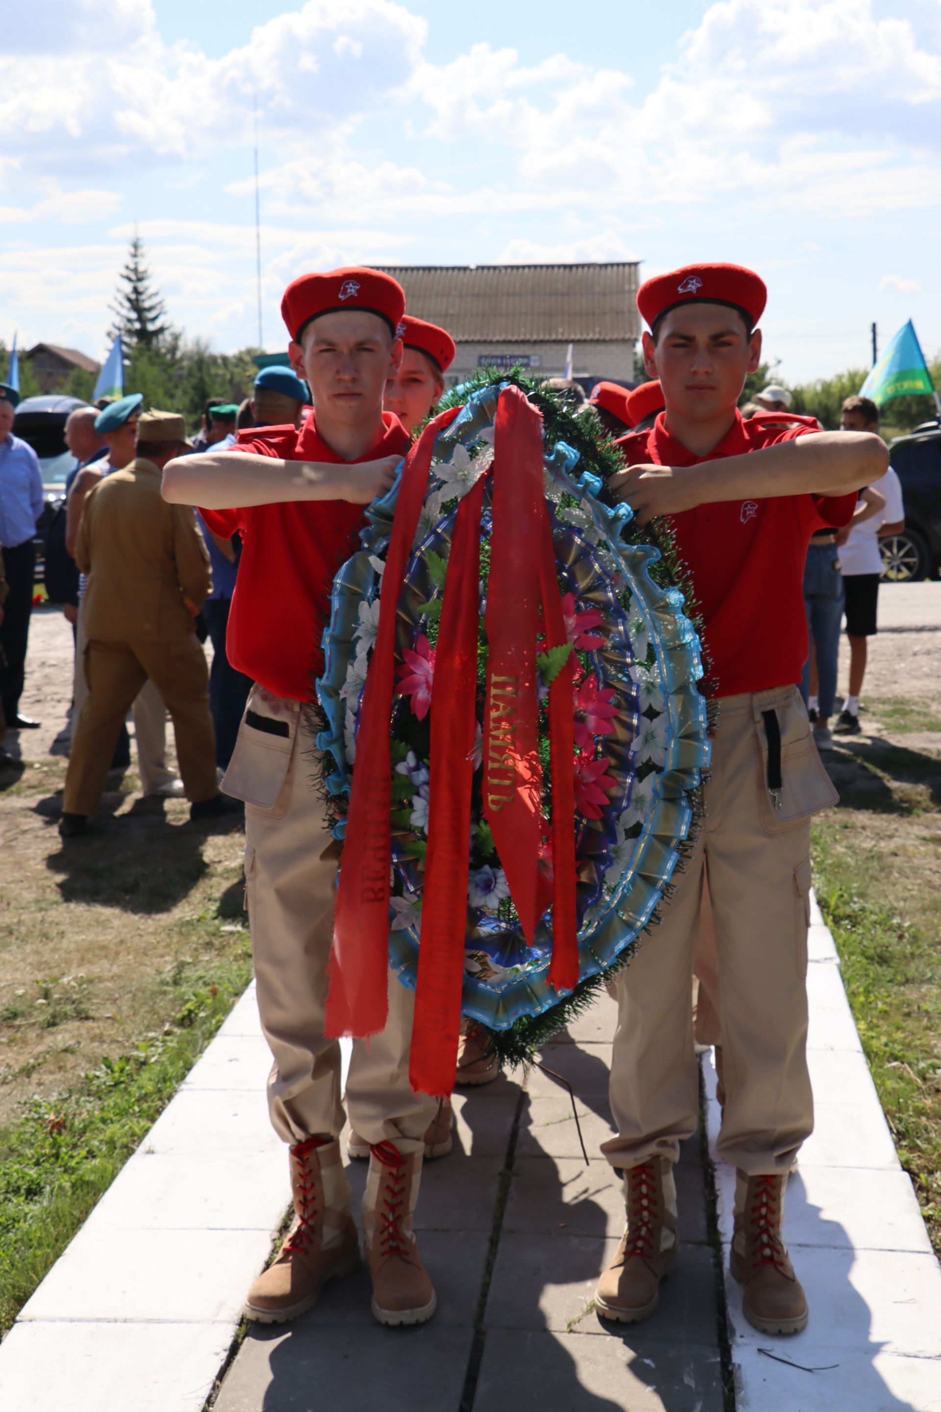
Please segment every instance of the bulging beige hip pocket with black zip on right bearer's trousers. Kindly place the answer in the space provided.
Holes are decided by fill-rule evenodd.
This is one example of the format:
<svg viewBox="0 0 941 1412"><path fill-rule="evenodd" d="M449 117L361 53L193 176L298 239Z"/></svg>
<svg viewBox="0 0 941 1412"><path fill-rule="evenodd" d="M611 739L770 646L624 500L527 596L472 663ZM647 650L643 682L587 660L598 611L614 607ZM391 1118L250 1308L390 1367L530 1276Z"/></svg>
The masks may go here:
<svg viewBox="0 0 941 1412"><path fill-rule="evenodd" d="M784 702L756 706L755 744L760 757L758 813L765 833L787 833L839 802L797 689Z"/></svg>

